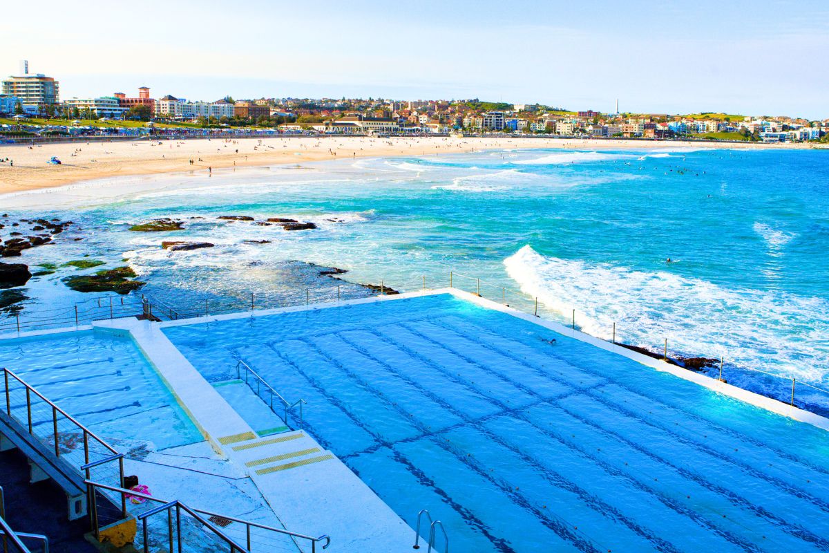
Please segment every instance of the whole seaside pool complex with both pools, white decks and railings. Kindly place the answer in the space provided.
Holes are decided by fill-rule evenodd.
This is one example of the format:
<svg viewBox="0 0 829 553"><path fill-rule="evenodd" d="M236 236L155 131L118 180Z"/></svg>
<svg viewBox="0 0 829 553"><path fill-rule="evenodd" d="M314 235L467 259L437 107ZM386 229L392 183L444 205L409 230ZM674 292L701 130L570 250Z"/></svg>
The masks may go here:
<svg viewBox="0 0 829 553"><path fill-rule="evenodd" d="M829 420L386 292L3 321L4 551L829 550Z"/></svg>

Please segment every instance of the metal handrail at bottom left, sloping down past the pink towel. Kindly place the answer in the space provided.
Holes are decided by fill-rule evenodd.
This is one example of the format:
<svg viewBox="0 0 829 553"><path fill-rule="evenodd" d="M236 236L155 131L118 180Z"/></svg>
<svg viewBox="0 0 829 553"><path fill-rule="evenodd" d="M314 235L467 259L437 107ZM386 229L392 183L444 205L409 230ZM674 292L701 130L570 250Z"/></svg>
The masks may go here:
<svg viewBox="0 0 829 553"><path fill-rule="evenodd" d="M181 510L185 514L193 517L194 520L211 530L211 533L216 534L217 538L225 543L226 546L233 547L230 551L240 551L242 553L272 553L280 549L296 551L298 546L310 546L312 553L316 551L327 549L331 545L331 538L327 535L322 536L308 536L307 534L300 534L294 531L288 531L284 528L276 528L268 526L259 522L246 521L238 517L229 517L216 512L205 511L203 509L196 509L185 506L179 501L167 501L160 497L153 497L151 495L135 492L124 488L109 486L103 483L96 483L91 480L85 481L88 490L91 494L95 490L106 491L110 493L118 493L122 497L135 497L145 502L158 503L158 507L153 507L147 511L141 512L137 518L142 523L143 533L143 547L144 551L148 551L149 541L149 525L152 522L153 515L161 512L167 512L167 527L162 528L164 541L170 547L170 553L173 551L181 551L177 548L179 540L182 540L183 533L181 531L182 519ZM176 508L176 530L172 530L173 512ZM219 524L225 525L224 528L219 528ZM214 531L216 530L216 531ZM220 536L221 534L221 536ZM186 543L186 541L184 542ZM240 546L244 543L245 546ZM231 545L232 544L232 545ZM154 550L153 550L154 551ZM306 550L307 551L307 550Z"/></svg>

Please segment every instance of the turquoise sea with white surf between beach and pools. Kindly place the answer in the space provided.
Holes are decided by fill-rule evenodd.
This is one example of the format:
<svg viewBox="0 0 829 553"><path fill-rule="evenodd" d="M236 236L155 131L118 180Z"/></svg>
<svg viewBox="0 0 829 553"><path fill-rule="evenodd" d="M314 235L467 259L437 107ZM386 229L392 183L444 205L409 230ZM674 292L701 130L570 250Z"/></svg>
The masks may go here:
<svg viewBox="0 0 829 553"><path fill-rule="evenodd" d="M780 386L739 370L751 367L826 387L827 156L663 148L363 159L133 178L117 199L96 199L90 185L76 187L71 210L9 212L83 228L84 240L29 250L27 262L128 259L148 292L171 298L321 283L308 263L371 283L451 270L537 296L562 320L575 310L576 324L599 337L616 323L624 342L657 349L667 339L676 355L725 357L741 386ZM221 215L319 228L285 232ZM186 230L128 231L162 216ZM168 252L162 240L216 247ZM27 308L77 300L60 282L74 270L32 281Z"/></svg>

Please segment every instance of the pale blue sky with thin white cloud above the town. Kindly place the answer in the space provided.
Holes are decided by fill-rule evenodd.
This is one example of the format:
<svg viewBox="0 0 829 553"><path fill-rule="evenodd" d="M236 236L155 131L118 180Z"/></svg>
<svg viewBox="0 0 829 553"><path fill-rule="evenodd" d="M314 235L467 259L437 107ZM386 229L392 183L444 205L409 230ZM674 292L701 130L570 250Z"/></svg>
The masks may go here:
<svg viewBox="0 0 829 553"><path fill-rule="evenodd" d="M61 97L503 100L829 117L829 0L5 2Z"/></svg>

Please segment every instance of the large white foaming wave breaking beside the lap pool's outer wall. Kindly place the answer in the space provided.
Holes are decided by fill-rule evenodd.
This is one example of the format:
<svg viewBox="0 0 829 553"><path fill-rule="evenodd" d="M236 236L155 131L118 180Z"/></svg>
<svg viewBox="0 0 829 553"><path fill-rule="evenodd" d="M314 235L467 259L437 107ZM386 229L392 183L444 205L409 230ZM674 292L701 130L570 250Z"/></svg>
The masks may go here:
<svg viewBox="0 0 829 553"><path fill-rule="evenodd" d="M637 271L538 254L504 260L521 291L597 337L821 382L829 358L829 302L779 291L729 289L666 271Z"/></svg>

